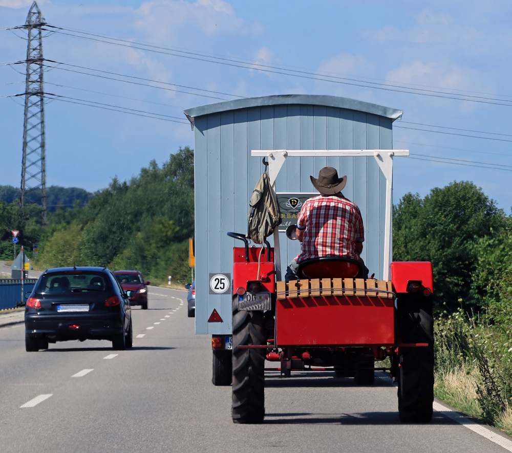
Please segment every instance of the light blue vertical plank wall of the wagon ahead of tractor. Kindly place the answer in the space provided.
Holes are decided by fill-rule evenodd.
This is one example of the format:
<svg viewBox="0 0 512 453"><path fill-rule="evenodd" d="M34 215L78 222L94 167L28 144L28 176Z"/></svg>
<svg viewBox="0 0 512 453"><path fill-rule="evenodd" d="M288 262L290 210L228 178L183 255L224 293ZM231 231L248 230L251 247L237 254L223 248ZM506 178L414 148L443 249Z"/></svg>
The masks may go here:
<svg viewBox="0 0 512 453"><path fill-rule="evenodd" d="M208 274L232 274L232 248L242 246L226 233L247 229L248 201L263 171L261 157L252 157L251 150L391 149L391 125L390 118L307 104L247 107L195 118L196 333L231 333L231 295L210 295ZM314 192L309 176L317 177L326 165L348 177L343 193L357 203L365 225L362 258L370 275L382 279L386 179L373 157L290 157L276 190ZM280 239L284 279L300 243L290 242L284 233ZM214 308L224 322L207 323Z"/></svg>

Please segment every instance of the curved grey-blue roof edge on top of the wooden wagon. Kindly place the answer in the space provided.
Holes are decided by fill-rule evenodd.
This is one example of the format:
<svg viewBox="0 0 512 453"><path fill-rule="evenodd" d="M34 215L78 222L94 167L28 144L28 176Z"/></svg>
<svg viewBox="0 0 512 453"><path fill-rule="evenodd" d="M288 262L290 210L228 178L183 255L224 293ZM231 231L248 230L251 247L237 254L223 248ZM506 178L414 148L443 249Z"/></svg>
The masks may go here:
<svg viewBox="0 0 512 453"><path fill-rule="evenodd" d="M232 101L222 101L216 102L215 104L206 104L200 105L199 107L187 108L184 110L184 113L187 118L196 118L202 115L215 114L228 110L238 110L240 108L280 104L307 104L347 108L349 110L357 110L385 118L390 118L393 121L399 120L403 113L402 110L398 110L396 108L385 107L383 105L372 104L370 102L357 101L350 98L327 95L273 95L260 96L257 98L234 99Z"/></svg>

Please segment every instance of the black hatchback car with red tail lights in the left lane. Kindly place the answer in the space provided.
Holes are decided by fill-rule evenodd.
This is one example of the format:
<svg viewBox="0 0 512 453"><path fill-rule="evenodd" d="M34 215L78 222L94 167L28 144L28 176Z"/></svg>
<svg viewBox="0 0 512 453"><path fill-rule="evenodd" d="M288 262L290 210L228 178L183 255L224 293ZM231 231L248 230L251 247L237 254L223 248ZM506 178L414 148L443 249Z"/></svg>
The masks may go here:
<svg viewBox="0 0 512 453"><path fill-rule="evenodd" d="M124 292L109 269L59 267L37 280L25 307L25 348L48 343L99 339L117 350L132 347L130 291Z"/></svg>

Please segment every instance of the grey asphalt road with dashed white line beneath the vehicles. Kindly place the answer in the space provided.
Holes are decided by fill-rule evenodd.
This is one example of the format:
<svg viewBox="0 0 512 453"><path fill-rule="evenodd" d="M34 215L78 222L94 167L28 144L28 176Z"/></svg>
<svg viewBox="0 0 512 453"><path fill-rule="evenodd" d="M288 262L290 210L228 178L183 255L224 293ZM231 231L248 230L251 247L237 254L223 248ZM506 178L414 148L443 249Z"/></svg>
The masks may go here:
<svg viewBox="0 0 512 453"><path fill-rule="evenodd" d="M401 424L384 374L355 387L330 372L268 373L265 423L235 425L231 388L211 384L210 337L194 334L186 292L151 287L149 307L134 307L126 351L88 341L28 353L23 324L0 328L0 451L507 451L437 412L431 424Z"/></svg>

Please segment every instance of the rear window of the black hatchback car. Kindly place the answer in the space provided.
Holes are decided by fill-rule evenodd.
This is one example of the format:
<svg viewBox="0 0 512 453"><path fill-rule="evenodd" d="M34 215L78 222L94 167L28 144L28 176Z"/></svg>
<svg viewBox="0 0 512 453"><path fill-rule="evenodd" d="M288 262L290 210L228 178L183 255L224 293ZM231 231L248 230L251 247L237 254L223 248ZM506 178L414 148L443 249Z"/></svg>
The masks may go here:
<svg viewBox="0 0 512 453"><path fill-rule="evenodd" d="M45 274L37 284L39 294L112 291L108 276L98 272L66 271Z"/></svg>

